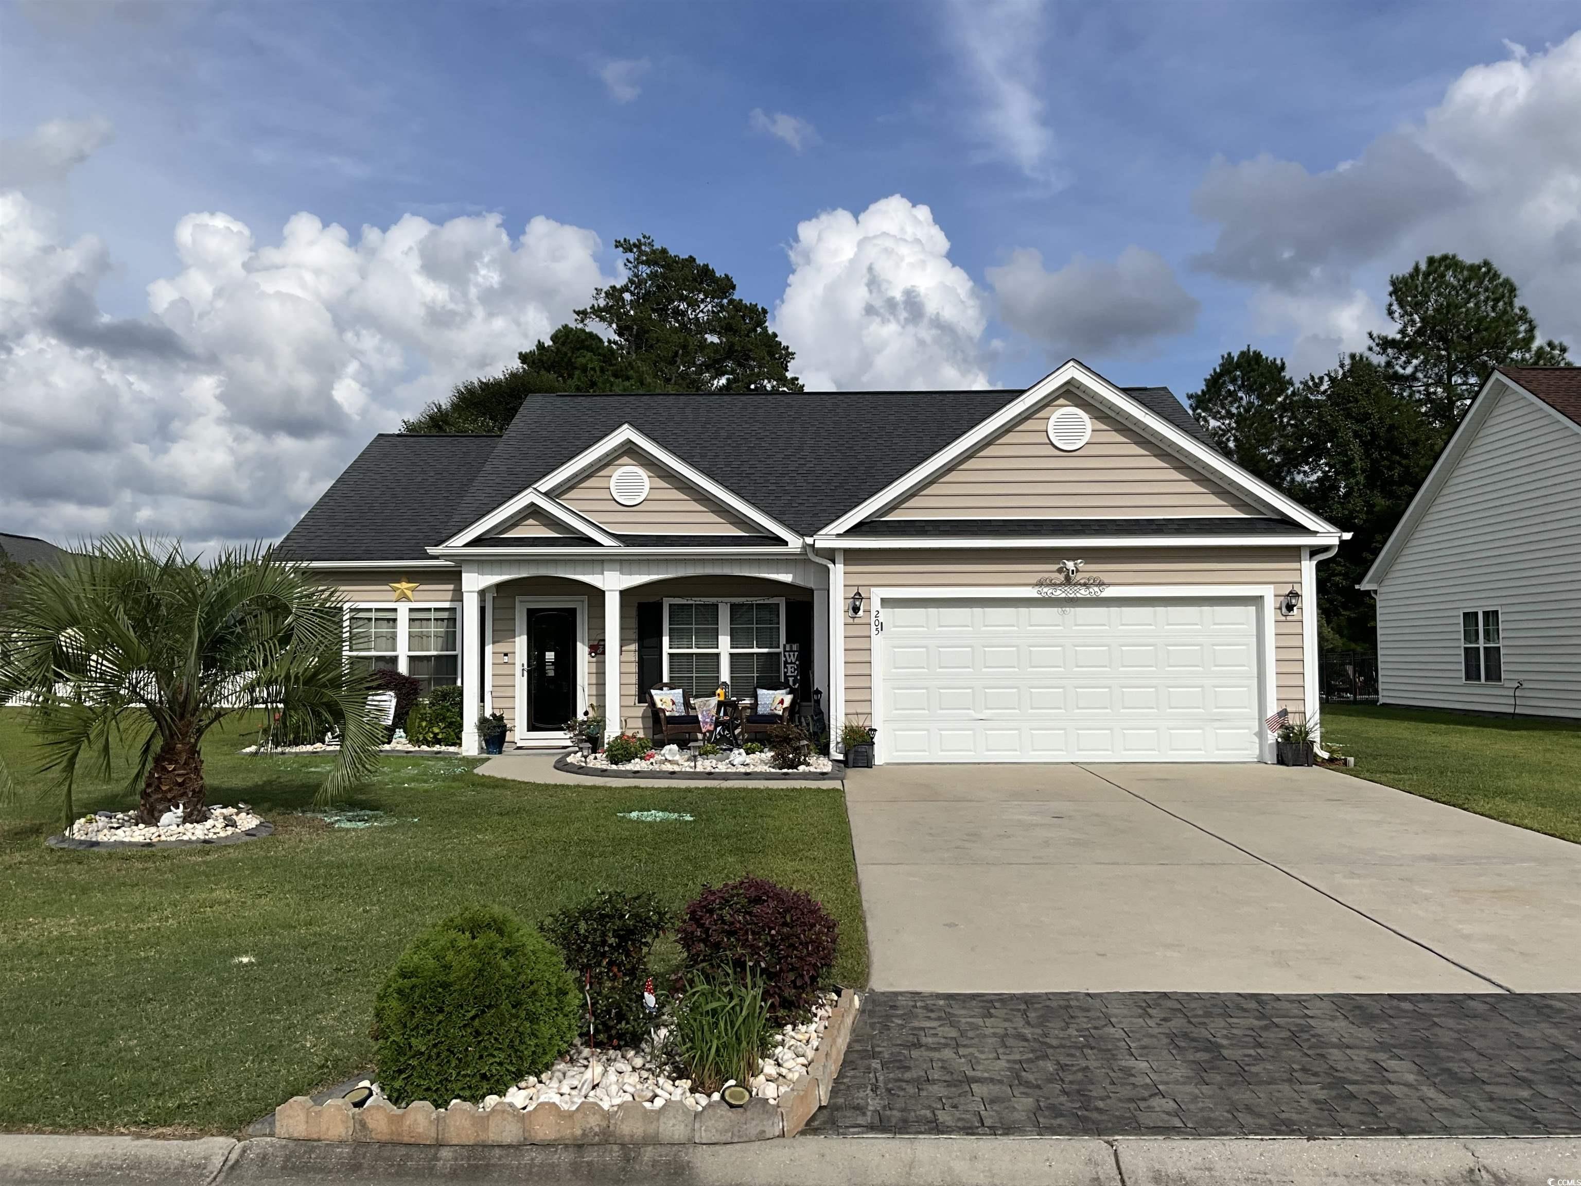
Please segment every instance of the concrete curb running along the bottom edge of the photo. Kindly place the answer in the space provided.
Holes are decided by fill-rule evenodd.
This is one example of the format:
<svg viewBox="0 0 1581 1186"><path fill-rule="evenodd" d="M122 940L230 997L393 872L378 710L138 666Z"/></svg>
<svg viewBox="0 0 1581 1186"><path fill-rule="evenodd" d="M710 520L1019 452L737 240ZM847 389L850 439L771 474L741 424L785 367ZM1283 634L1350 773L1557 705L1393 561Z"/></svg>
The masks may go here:
<svg viewBox="0 0 1581 1186"><path fill-rule="evenodd" d="M1581 1140L1015 1140L797 1137L753 1145L321 1145L0 1135L6 1186L1439 1186L1581 1180Z"/></svg>

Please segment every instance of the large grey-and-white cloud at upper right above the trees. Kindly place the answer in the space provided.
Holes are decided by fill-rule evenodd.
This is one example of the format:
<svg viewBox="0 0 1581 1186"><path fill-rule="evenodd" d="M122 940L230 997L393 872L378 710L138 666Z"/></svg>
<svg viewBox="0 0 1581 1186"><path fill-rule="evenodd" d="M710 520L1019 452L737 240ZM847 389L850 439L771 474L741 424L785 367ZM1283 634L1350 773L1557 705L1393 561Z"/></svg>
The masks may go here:
<svg viewBox="0 0 1581 1186"><path fill-rule="evenodd" d="M1431 253L1488 258L1545 334L1581 345L1581 33L1475 65L1404 128L1323 172L1214 161L1194 210L1219 225L1198 266L1257 285L1254 318L1307 349L1360 349L1382 293L1355 274ZM1330 357L1322 364L1328 365Z"/></svg>

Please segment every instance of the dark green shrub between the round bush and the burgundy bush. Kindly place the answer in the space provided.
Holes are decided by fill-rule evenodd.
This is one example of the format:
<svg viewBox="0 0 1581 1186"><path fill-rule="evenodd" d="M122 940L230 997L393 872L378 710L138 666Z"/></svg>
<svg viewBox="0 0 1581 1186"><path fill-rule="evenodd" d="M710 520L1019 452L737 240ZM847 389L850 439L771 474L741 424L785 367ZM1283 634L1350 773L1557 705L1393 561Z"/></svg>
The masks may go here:
<svg viewBox="0 0 1581 1186"><path fill-rule="evenodd" d="M544 935L566 957L593 1006L593 1042L640 1045L653 1020L642 1003L648 955L670 912L651 893L599 890L552 916Z"/></svg>

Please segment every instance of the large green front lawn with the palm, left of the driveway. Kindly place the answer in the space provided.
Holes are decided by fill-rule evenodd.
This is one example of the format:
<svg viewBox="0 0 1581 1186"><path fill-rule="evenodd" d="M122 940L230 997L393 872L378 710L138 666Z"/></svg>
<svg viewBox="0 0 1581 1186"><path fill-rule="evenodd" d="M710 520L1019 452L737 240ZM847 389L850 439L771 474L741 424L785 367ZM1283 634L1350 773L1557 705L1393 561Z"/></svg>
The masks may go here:
<svg viewBox="0 0 1581 1186"><path fill-rule="evenodd" d="M0 710L0 753L27 784L22 716ZM0 1131L231 1132L362 1071L379 979L421 927L471 901L531 920L610 886L680 906L754 873L819 898L840 920L836 979L866 982L838 786L533 786L392 757L346 805L398 822L345 830L299 814L327 759L243 757L245 740L210 735L210 802L261 808L266 840L66 852L43 843L57 800L27 794L0 816ZM123 805L79 784L79 814ZM618 816L650 808L696 819Z"/></svg>

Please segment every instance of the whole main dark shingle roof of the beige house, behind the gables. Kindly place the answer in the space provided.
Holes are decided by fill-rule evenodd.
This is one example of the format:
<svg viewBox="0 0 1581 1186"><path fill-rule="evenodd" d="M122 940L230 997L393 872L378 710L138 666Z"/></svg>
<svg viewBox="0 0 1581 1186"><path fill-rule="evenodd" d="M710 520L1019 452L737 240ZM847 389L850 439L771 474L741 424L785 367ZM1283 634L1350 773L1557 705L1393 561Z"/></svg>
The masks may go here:
<svg viewBox="0 0 1581 1186"><path fill-rule="evenodd" d="M1211 446L1168 387L1126 392ZM417 560L623 424L811 534L1021 391L528 395L503 436L381 433L285 539L299 560ZM572 547L553 536L509 546ZM566 538L560 538L566 539ZM643 536L623 536L631 546ZM648 546L692 546L688 538ZM738 538L760 542L756 536ZM500 541L493 541L500 542ZM718 542L718 538L708 538ZM773 541L768 541L773 542Z"/></svg>

